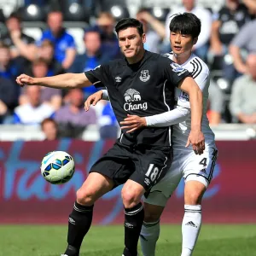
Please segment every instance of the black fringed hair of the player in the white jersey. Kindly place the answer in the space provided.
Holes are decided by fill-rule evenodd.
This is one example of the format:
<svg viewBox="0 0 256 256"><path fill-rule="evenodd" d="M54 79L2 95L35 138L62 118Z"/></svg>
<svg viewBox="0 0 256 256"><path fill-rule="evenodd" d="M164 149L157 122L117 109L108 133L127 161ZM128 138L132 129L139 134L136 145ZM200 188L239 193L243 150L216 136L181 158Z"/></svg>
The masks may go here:
<svg viewBox="0 0 256 256"><path fill-rule="evenodd" d="M201 20L191 13L183 13L172 18L169 28L171 32L180 32L197 38L201 32Z"/></svg>

